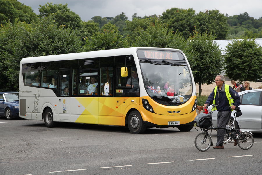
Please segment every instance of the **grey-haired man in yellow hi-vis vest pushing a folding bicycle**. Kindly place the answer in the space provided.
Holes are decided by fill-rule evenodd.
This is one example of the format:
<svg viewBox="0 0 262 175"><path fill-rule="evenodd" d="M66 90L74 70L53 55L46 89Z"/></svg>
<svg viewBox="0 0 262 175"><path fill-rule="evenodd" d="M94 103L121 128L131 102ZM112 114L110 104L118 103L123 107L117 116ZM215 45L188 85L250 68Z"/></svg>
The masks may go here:
<svg viewBox="0 0 262 175"><path fill-rule="evenodd" d="M233 90L231 86L225 84L225 78L223 75L217 75L215 78L215 83L217 86L208 96L204 107L206 108L206 106L210 104L218 105L215 108L215 110L218 111L217 127L225 128L230 119L231 109L234 110L241 104L240 96L235 90ZM229 107L231 107L231 109ZM224 149L223 143L225 133L226 130L218 129L217 143L216 146L213 147L214 149ZM236 146L237 140L234 141L234 146Z"/></svg>

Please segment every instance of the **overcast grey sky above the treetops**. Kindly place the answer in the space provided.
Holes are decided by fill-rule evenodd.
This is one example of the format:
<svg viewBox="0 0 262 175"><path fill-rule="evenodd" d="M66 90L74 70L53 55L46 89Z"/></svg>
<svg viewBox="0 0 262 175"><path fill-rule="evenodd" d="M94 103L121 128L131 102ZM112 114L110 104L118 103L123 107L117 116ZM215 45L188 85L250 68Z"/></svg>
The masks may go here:
<svg viewBox="0 0 262 175"><path fill-rule="evenodd" d="M132 15L144 17L145 15L162 15L170 8L193 8L196 13L200 11L217 9L229 16L247 12L249 16L258 19L262 17L262 0L18 0L30 6L39 14L39 5L47 2L53 4L68 4L68 8L78 14L82 21L91 20L94 16L115 17L124 12L128 20Z"/></svg>

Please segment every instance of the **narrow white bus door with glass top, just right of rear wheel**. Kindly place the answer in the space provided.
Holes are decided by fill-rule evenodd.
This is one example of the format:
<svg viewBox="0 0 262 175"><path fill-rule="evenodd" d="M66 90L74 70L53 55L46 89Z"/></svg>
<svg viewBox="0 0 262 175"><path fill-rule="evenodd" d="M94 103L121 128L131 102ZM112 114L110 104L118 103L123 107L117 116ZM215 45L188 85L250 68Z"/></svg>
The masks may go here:
<svg viewBox="0 0 262 175"><path fill-rule="evenodd" d="M59 117L58 120L70 120L70 76L71 69L59 69L58 81L58 103L59 103Z"/></svg>

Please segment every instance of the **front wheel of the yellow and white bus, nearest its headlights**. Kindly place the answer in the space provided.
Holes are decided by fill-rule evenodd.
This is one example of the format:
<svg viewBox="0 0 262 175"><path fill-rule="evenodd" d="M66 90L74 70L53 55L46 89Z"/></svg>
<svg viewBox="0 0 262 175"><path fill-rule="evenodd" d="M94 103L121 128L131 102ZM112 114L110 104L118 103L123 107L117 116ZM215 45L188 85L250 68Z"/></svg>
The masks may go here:
<svg viewBox="0 0 262 175"><path fill-rule="evenodd" d="M142 134L146 131L147 127L138 111L132 111L128 115L128 129L132 134Z"/></svg>

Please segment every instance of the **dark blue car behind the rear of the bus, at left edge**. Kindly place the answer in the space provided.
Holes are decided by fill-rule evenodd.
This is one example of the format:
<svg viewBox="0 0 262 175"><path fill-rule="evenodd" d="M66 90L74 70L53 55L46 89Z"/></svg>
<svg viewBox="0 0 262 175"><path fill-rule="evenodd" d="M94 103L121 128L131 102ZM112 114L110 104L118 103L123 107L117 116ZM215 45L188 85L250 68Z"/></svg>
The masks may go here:
<svg viewBox="0 0 262 175"><path fill-rule="evenodd" d="M18 92L0 92L0 116L18 118Z"/></svg>

